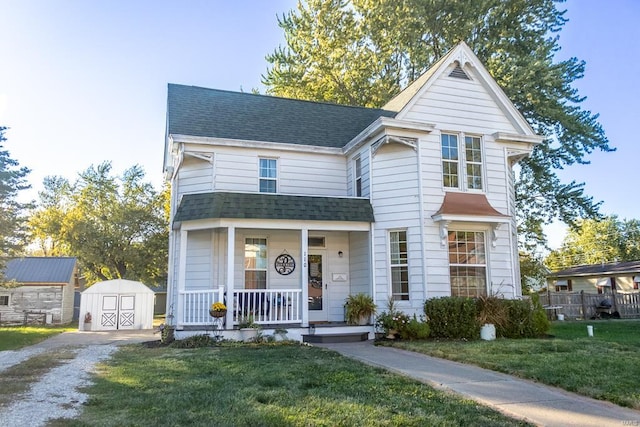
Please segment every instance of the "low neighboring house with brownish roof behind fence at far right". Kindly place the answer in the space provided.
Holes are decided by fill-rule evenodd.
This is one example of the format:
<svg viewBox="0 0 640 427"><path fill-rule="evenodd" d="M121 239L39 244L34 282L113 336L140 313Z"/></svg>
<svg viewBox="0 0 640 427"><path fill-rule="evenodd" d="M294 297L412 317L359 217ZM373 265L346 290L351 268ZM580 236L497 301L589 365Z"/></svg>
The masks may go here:
<svg viewBox="0 0 640 427"><path fill-rule="evenodd" d="M638 290L640 261L610 262L580 265L550 273L547 277L550 291L611 293Z"/></svg>

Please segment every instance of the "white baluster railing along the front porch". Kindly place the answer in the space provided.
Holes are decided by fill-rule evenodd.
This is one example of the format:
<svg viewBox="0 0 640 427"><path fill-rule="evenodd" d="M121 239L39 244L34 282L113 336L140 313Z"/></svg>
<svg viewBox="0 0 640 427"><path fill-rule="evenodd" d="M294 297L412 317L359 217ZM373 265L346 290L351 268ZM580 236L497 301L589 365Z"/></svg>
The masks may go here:
<svg viewBox="0 0 640 427"><path fill-rule="evenodd" d="M222 288L202 291L182 291L183 326L209 325L212 318L209 307L216 301L223 301L233 314L233 324L251 316L258 325L302 322L302 291L300 289L234 289L232 303L229 303Z"/></svg>

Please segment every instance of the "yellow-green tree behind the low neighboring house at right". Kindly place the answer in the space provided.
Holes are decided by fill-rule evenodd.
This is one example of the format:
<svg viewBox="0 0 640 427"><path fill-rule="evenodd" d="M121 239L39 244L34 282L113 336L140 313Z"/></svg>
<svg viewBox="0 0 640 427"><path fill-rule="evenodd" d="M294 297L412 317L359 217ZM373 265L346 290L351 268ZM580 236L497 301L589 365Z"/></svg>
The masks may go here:
<svg viewBox="0 0 640 427"><path fill-rule="evenodd" d="M620 221L612 215L602 220L578 221L545 263L552 270L562 270L575 265L637 260L640 260L640 222Z"/></svg>

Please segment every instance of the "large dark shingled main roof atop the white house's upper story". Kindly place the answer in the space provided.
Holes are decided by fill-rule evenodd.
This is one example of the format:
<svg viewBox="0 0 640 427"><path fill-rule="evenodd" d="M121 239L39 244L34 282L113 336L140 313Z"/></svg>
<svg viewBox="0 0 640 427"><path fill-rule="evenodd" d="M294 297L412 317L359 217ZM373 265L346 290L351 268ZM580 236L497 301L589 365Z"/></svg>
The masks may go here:
<svg viewBox="0 0 640 427"><path fill-rule="evenodd" d="M169 84L167 132L344 147L381 116L395 112Z"/></svg>

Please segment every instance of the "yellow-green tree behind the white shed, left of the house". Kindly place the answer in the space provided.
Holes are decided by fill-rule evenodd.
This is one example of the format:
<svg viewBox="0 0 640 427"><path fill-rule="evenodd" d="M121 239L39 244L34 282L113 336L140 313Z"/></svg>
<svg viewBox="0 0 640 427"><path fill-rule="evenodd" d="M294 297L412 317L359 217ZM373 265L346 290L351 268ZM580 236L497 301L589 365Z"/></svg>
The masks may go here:
<svg viewBox="0 0 640 427"><path fill-rule="evenodd" d="M143 179L139 166L114 177L109 162L89 167L73 184L47 177L30 219L34 242L48 255L77 257L89 284L164 283L168 189L158 193Z"/></svg>

